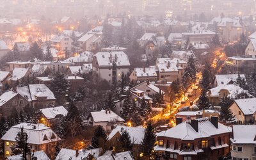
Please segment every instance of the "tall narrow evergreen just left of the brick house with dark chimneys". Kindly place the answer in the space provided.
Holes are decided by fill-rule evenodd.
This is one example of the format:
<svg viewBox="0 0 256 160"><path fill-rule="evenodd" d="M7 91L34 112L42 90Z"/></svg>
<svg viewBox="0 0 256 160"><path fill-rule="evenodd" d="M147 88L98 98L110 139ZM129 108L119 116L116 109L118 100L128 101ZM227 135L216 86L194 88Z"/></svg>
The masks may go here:
<svg viewBox="0 0 256 160"><path fill-rule="evenodd" d="M156 142L156 135L154 134L154 127L151 122L147 123L147 128L145 129L144 138L142 141L143 154L145 156L150 156Z"/></svg>

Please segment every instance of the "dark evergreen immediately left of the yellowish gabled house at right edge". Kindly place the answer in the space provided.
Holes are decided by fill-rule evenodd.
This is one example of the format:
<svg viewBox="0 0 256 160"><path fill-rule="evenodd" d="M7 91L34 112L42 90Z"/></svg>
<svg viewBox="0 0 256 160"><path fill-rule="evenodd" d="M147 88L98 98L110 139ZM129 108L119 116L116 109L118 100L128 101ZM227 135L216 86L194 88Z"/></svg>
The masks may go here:
<svg viewBox="0 0 256 160"><path fill-rule="evenodd" d="M234 119L235 116L232 115L231 110L229 109L230 104L234 102L233 99L230 99L229 97L223 97L220 102L220 120L223 122L230 122Z"/></svg>

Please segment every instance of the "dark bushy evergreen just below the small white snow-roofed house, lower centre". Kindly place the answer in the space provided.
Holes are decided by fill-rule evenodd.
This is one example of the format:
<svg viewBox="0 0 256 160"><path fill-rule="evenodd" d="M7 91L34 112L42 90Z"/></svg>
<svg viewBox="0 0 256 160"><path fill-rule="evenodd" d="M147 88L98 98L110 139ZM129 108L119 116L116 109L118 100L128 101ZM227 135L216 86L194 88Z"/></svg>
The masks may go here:
<svg viewBox="0 0 256 160"><path fill-rule="evenodd" d="M92 147L93 148L99 148L104 144L100 144L100 143L106 143L107 141L107 134L106 131L104 130L104 128L102 127L102 125L99 125L95 131L94 134L92 136Z"/></svg>

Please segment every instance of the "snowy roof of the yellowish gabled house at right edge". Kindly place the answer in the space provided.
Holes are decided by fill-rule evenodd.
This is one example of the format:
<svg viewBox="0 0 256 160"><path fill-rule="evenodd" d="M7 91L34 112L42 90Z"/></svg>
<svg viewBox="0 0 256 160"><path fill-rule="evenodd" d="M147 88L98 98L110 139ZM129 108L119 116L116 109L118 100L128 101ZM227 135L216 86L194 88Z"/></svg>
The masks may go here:
<svg viewBox="0 0 256 160"><path fill-rule="evenodd" d="M256 111L256 98L236 99L235 102L244 115L253 115Z"/></svg>

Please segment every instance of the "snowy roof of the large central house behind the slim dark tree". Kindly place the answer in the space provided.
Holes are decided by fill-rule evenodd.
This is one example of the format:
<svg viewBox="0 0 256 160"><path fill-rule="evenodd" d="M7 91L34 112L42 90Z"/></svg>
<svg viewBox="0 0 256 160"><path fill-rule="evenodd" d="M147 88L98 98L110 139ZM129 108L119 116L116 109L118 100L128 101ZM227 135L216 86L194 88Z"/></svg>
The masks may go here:
<svg viewBox="0 0 256 160"><path fill-rule="evenodd" d="M115 52L97 52L95 54L95 58L97 58L99 67L111 67L113 66L113 61L115 61L116 66L130 66L130 61L123 51L115 51Z"/></svg>

